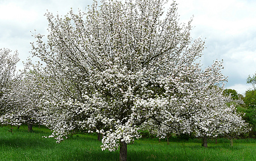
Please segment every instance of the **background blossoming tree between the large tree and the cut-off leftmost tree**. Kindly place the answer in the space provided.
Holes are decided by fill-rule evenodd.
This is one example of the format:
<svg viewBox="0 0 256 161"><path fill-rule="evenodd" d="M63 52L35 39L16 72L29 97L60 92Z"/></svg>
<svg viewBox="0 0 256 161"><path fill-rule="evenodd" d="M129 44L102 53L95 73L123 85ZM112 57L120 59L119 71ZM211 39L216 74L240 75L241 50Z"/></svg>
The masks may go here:
<svg viewBox="0 0 256 161"><path fill-rule="evenodd" d="M12 107L2 116L10 125L27 124L28 132L32 131L33 124L40 125L40 116L42 116L39 108L42 92L38 89L37 78L32 70L20 71L9 95Z"/></svg>

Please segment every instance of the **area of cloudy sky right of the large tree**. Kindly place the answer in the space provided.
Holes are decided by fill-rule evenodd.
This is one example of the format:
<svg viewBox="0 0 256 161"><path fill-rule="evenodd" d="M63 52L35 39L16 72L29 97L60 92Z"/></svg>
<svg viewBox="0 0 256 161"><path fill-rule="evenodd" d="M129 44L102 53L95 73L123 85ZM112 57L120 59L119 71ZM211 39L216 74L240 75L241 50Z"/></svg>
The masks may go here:
<svg viewBox="0 0 256 161"><path fill-rule="evenodd" d="M256 1L177 0L182 22L194 15L191 35L206 37L202 63L224 60L226 87L240 93L247 90L246 78L256 71Z"/></svg>

